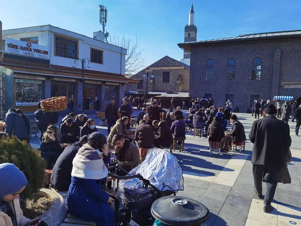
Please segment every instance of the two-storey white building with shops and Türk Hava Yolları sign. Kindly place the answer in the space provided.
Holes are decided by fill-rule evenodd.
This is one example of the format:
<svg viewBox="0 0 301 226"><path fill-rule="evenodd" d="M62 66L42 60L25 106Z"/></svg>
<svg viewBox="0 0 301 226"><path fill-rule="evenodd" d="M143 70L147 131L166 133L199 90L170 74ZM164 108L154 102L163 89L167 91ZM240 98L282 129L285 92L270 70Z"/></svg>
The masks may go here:
<svg viewBox="0 0 301 226"><path fill-rule="evenodd" d="M33 111L41 99L73 95L74 107L81 109L83 93L85 109L93 108L89 97L98 96L101 109L110 98L120 103L124 84L136 82L124 75L126 49L103 42L101 32L94 32L93 37L51 25L3 31L0 71L7 75L6 86L11 86L2 95L7 97L6 108L21 106L24 111ZM78 58L87 58L84 90Z"/></svg>

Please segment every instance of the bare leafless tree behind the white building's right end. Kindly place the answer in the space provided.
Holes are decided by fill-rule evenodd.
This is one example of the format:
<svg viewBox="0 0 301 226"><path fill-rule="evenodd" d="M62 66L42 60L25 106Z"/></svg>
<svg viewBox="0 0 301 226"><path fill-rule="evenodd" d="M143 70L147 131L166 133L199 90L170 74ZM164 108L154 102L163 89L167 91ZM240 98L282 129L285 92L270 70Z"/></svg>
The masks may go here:
<svg viewBox="0 0 301 226"><path fill-rule="evenodd" d="M144 49L139 45L137 35L135 39L130 37L119 37L116 33L109 36L108 43L115 46L120 46L127 49L127 55L125 56L125 74L134 74L142 70L145 67L146 56Z"/></svg>

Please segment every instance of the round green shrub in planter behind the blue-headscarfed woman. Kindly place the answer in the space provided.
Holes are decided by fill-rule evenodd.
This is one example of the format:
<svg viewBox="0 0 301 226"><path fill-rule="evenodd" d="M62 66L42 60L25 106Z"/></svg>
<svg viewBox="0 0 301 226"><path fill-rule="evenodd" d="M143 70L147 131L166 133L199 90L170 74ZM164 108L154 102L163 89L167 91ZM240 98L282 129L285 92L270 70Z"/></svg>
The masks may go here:
<svg viewBox="0 0 301 226"><path fill-rule="evenodd" d="M43 187L46 164L37 149L30 148L26 141L17 137L0 139L0 164L15 164L26 176L28 185L22 192L22 198L33 197Z"/></svg>

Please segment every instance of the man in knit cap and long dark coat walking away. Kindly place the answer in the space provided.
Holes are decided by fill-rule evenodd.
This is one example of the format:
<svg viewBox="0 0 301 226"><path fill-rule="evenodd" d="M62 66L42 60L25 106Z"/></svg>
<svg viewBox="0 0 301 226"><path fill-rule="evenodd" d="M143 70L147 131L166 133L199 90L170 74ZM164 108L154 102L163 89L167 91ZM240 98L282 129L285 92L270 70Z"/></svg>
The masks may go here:
<svg viewBox="0 0 301 226"><path fill-rule="evenodd" d="M286 155L291 144L289 126L276 118L276 107L269 104L265 108L265 118L253 122L249 139L254 144L252 161L254 192L262 199L262 181L266 182L264 212L273 209L273 200L277 182L283 167L286 166Z"/></svg>

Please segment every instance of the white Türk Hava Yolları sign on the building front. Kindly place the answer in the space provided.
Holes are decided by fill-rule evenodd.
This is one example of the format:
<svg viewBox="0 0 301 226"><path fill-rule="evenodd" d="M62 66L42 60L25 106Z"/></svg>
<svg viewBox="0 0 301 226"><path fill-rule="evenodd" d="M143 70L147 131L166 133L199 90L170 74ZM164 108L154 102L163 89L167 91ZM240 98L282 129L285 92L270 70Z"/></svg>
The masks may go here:
<svg viewBox="0 0 301 226"><path fill-rule="evenodd" d="M49 59L48 46L23 42L15 39L5 39L5 51L24 56Z"/></svg>

